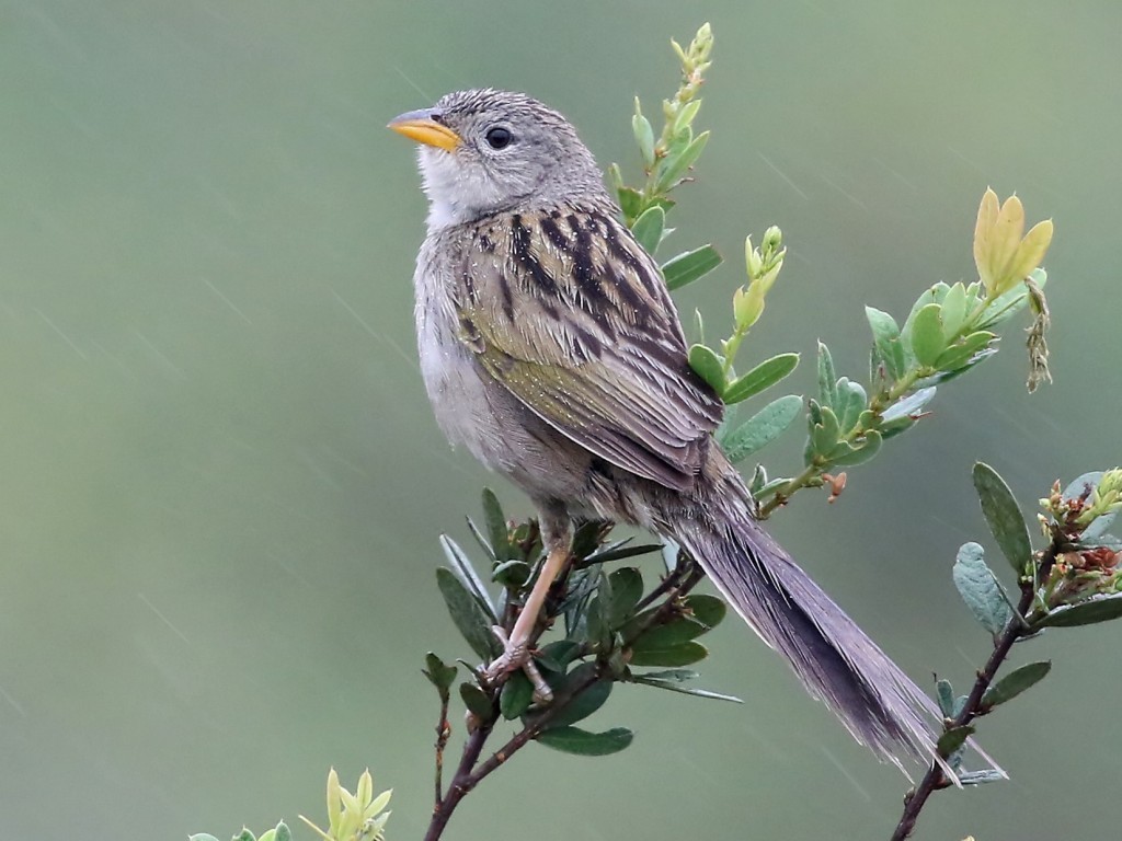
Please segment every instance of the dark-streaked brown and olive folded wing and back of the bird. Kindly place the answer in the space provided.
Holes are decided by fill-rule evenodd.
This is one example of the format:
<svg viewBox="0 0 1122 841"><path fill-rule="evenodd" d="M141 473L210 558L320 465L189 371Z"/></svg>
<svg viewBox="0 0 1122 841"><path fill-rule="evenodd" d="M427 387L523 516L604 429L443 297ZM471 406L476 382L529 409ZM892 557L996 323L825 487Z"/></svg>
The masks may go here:
<svg viewBox="0 0 1122 841"><path fill-rule="evenodd" d="M601 459L690 487L724 406L631 231L588 207L503 215L471 251L454 297L486 373Z"/></svg>

